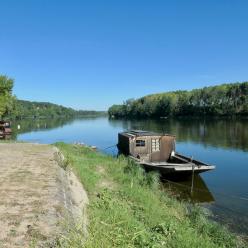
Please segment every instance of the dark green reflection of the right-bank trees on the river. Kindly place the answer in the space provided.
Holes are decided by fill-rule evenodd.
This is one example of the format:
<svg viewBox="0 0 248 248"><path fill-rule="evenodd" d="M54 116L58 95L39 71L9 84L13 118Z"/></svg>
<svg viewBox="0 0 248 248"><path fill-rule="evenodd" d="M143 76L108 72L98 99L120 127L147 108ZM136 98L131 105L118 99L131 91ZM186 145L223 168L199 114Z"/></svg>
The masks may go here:
<svg viewBox="0 0 248 248"><path fill-rule="evenodd" d="M248 119L109 120L109 123L113 127L122 126L124 130L171 133L179 142L248 151Z"/></svg>

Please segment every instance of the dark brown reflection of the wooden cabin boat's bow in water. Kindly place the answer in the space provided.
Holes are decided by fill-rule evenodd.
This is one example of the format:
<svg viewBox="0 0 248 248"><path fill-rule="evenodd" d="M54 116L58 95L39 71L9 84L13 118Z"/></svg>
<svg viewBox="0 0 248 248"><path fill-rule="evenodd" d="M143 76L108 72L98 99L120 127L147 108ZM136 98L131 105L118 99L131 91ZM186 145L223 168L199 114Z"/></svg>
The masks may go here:
<svg viewBox="0 0 248 248"><path fill-rule="evenodd" d="M174 179L173 179L174 180ZM208 189L206 183L200 175L194 176L194 186L192 187L191 178L189 180L169 181L164 179L164 187L170 188L179 194L180 199L191 200L197 203L214 202L214 197Z"/></svg>

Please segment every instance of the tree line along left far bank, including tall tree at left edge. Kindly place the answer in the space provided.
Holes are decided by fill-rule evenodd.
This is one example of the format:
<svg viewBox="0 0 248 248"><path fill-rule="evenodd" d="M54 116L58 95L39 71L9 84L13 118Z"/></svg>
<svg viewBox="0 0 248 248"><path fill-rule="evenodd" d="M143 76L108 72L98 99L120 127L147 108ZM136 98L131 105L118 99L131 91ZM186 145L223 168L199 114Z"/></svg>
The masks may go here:
<svg viewBox="0 0 248 248"><path fill-rule="evenodd" d="M103 115L105 112L74 110L48 102L18 100L12 95L14 80L0 75L0 119L85 117Z"/></svg>

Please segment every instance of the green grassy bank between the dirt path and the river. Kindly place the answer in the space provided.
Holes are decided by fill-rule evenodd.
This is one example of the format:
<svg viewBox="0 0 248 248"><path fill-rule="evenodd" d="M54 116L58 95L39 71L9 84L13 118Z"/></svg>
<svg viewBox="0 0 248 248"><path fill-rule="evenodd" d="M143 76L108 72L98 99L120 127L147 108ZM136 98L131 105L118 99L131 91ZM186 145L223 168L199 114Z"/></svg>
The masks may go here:
<svg viewBox="0 0 248 248"><path fill-rule="evenodd" d="M124 157L56 146L90 200L86 241L80 227L68 227L60 247L245 247L199 207L188 208L160 191L156 174L145 174Z"/></svg>

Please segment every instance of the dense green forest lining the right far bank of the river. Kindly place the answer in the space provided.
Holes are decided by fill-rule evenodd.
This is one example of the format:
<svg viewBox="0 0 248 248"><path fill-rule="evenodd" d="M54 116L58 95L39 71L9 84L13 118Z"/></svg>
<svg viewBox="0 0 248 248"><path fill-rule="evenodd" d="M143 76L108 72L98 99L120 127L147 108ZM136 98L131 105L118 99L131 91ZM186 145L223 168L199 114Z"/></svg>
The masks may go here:
<svg viewBox="0 0 248 248"><path fill-rule="evenodd" d="M248 82L173 91L113 105L112 118L248 115Z"/></svg>

